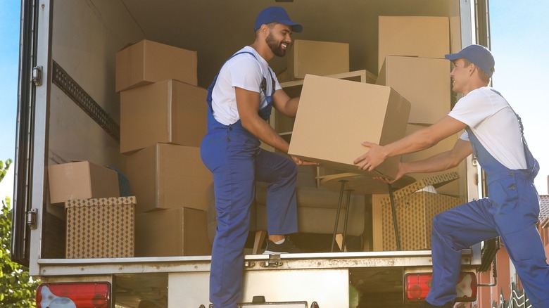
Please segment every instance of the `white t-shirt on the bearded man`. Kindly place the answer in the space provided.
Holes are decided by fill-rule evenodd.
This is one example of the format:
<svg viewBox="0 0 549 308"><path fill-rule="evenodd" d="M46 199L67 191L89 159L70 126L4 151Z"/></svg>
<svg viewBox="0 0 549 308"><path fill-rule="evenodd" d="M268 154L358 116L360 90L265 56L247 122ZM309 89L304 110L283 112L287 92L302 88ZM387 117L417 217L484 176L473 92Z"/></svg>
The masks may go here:
<svg viewBox="0 0 549 308"><path fill-rule="evenodd" d="M259 92L260 109L267 105L265 94L260 91L263 77L267 82L267 91L265 92L268 95L272 93L271 76L275 82L274 89L282 89L267 61L261 58L255 49L246 46L239 52L241 51L251 52L255 55L255 58L249 53L242 53L229 59L222 66L212 92L213 117L217 122L225 125L240 120L239 111L236 107L235 86L248 91Z"/></svg>

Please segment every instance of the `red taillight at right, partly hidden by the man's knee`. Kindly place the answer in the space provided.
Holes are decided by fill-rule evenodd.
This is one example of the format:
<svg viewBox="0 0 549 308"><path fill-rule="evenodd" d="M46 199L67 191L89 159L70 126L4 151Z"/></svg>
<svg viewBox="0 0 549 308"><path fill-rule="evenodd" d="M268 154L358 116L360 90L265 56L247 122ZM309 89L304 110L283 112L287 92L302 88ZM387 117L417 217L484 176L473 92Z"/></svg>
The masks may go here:
<svg viewBox="0 0 549 308"><path fill-rule="evenodd" d="M425 300L431 289L432 273L407 274L405 280L405 297L410 302ZM472 302L477 300L477 276L474 273L461 273L455 286L457 302Z"/></svg>

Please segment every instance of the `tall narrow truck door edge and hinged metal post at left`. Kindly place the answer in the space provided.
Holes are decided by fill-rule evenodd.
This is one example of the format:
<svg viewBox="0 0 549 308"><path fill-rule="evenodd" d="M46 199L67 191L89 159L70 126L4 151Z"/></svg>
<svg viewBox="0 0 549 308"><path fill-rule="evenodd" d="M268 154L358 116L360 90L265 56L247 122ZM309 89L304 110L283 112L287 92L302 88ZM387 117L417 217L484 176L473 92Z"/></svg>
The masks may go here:
<svg viewBox="0 0 549 308"><path fill-rule="evenodd" d="M11 258L37 274L50 83L51 1L22 1Z"/></svg>

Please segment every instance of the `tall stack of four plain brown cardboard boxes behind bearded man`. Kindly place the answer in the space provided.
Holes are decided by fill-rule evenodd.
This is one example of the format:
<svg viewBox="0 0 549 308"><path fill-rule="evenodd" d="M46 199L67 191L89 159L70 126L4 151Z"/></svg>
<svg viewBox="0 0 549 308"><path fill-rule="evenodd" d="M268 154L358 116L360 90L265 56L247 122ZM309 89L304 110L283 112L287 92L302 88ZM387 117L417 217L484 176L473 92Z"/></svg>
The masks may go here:
<svg viewBox="0 0 549 308"><path fill-rule="evenodd" d="M116 54L120 153L139 200L137 257L209 255L200 157L206 89L197 86L196 51L143 40Z"/></svg>

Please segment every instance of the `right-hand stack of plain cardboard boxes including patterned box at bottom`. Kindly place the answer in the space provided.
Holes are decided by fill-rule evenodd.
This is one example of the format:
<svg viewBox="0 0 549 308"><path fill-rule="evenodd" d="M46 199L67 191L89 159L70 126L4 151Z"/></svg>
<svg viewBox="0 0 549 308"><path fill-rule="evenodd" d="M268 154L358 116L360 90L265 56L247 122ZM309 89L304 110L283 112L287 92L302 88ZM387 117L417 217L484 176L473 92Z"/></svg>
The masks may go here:
<svg viewBox="0 0 549 308"><path fill-rule="evenodd" d="M379 75L377 84L391 86L411 104L406 135L434 124L451 109L450 31L447 17L379 16ZM451 150L458 135L433 148L402 156L403 162L429 158ZM396 200L396 217L401 250L431 247L431 220L434 215L463 203L458 181L441 181L457 168L435 174L408 174L418 181L403 189ZM414 192L422 185L436 185L437 193ZM410 189L412 189L410 191ZM444 195L443 195L444 194ZM373 196L374 250L396 250L393 216L386 195Z"/></svg>

